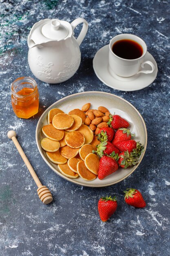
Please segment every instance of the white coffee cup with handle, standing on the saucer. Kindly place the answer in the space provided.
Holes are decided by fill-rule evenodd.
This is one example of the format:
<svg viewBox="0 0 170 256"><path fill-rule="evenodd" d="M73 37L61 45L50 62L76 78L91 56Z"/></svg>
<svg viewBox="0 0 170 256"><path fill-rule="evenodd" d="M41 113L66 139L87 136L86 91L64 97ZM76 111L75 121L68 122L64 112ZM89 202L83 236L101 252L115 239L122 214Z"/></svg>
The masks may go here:
<svg viewBox="0 0 170 256"><path fill-rule="evenodd" d="M122 39L130 39L135 42L137 42L141 47L143 48L143 54L136 59L125 59L117 56L113 50L112 47L115 42L122 40ZM155 65L151 61L144 61L144 57L147 52L147 46L144 40L139 38L138 36L132 35L132 34L120 34L115 37L113 37L110 40L109 44L109 72L111 75L117 74L118 76L123 76L123 77L129 77L129 76L134 76L135 74L139 73L145 73L145 74L150 74L154 72L155 70ZM145 64L150 65L151 70L144 70L141 68L144 68Z"/></svg>

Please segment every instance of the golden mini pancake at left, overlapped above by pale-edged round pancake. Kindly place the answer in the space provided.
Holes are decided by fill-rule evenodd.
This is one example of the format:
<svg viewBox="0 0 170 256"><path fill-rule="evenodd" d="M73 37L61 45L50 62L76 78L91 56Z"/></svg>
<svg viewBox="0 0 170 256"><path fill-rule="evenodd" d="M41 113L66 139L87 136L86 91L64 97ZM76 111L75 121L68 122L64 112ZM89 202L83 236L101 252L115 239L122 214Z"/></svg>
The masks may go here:
<svg viewBox="0 0 170 256"><path fill-rule="evenodd" d="M60 140L64 137L64 130L58 130L52 124L43 126L42 132L47 138L52 140Z"/></svg>

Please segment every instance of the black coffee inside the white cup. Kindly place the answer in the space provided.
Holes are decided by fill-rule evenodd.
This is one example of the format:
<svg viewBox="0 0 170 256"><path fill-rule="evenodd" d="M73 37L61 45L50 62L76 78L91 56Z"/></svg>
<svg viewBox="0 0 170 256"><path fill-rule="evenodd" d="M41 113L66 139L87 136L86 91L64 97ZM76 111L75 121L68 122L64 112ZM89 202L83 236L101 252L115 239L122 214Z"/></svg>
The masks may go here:
<svg viewBox="0 0 170 256"><path fill-rule="evenodd" d="M134 60L143 54L143 48L139 43L130 39L122 39L115 42L112 51L120 58Z"/></svg>

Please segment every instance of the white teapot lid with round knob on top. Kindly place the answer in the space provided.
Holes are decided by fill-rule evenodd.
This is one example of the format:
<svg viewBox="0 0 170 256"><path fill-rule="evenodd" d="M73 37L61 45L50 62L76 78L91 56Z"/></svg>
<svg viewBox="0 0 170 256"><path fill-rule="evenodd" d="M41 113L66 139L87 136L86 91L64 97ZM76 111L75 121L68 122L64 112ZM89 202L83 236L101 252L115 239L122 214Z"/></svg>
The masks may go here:
<svg viewBox="0 0 170 256"><path fill-rule="evenodd" d="M49 39L61 40L68 35L68 29L64 26L62 20L49 20L44 26L42 26L42 34Z"/></svg>

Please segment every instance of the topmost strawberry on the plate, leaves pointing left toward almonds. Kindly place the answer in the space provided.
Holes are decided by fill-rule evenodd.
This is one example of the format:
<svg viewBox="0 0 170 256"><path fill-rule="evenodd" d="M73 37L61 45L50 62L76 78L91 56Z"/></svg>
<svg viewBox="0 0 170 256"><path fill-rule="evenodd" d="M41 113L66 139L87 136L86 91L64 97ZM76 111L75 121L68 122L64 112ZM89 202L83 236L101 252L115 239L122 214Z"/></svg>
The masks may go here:
<svg viewBox="0 0 170 256"><path fill-rule="evenodd" d="M117 130L119 128L128 128L130 124L124 118L119 115L109 115L110 119L108 121L108 125L113 129Z"/></svg>

